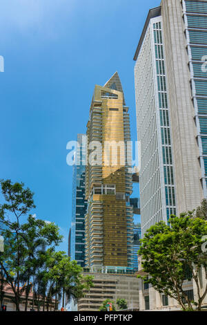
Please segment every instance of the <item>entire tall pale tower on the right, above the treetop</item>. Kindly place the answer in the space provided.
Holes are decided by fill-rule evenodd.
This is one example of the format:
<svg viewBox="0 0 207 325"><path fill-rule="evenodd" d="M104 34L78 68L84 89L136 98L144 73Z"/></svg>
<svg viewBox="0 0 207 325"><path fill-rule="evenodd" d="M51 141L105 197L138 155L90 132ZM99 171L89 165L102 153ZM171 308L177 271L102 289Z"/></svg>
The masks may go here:
<svg viewBox="0 0 207 325"><path fill-rule="evenodd" d="M207 3L163 0L149 11L135 53L145 232L207 195Z"/></svg>

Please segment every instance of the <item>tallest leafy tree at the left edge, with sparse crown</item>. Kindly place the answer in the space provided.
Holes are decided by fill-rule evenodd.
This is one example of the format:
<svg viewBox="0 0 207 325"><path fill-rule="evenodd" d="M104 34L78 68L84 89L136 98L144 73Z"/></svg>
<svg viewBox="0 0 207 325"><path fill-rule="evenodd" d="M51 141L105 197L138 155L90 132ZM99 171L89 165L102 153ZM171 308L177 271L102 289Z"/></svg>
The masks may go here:
<svg viewBox="0 0 207 325"><path fill-rule="evenodd" d="M12 184L10 180L1 180L1 190L5 202L0 205L0 221L3 224L1 234L4 236L4 252L0 257L0 266L6 283L14 293L17 311L21 295L26 292L26 308L30 293L30 279L34 275L37 263L37 251L47 245L58 245L62 236L54 223L46 223L32 216L26 223L21 222L34 208L33 193L25 189L23 183ZM24 281L27 282L23 286Z"/></svg>

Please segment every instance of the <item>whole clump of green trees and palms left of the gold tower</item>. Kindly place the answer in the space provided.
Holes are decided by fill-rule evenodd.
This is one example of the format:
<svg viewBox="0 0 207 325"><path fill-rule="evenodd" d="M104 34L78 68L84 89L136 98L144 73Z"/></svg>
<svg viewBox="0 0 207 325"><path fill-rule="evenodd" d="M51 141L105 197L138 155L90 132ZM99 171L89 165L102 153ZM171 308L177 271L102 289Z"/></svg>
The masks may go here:
<svg viewBox="0 0 207 325"><path fill-rule="evenodd" d="M0 232L4 237L0 300L6 284L12 288L17 311L23 293L27 310L31 291L32 307L37 305L38 310L40 306L49 310L53 297L57 308L62 293L82 297L83 290L92 286L92 277L83 277L82 268L76 261L70 261L65 252L55 252L62 240L58 226L27 216L34 208L34 201L33 193L23 183L1 180L0 184L5 201L0 204L0 225L3 225Z"/></svg>

